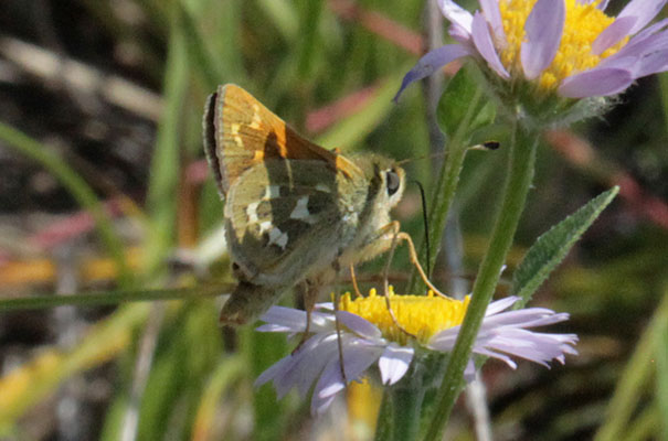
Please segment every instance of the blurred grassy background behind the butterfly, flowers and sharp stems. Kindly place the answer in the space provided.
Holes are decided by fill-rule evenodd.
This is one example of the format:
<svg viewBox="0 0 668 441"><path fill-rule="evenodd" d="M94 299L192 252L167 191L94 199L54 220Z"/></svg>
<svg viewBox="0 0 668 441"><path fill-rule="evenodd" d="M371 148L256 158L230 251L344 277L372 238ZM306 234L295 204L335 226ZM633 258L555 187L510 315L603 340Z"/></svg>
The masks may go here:
<svg viewBox="0 0 668 441"><path fill-rule="evenodd" d="M4 0L0 438L371 439L378 390L351 388L312 419L297 395L276 401L253 387L293 346L219 327L215 294L233 280L202 109L219 84L236 83L327 148L412 159L428 194L441 159L425 158L444 142L433 108L458 66L391 98L444 30L424 1ZM621 194L532 301L571 313L555 330L579 334L580 356L483 369L498 440L668 437L668 77L643 78L618 101L603 119L545 132L539 150L499 295L540 234L612 185ZM434 276L449 292L467 292L486 249L506 155L505 133L495 137L499 150L465 163ZM413 189L394 216L421 241ZM358 269L364 289L381 263ZM400 250L399 292L410 268ZM182 300L2 303L147 289ZM469 409L462 399L448 439L475 439Z"/></svg>

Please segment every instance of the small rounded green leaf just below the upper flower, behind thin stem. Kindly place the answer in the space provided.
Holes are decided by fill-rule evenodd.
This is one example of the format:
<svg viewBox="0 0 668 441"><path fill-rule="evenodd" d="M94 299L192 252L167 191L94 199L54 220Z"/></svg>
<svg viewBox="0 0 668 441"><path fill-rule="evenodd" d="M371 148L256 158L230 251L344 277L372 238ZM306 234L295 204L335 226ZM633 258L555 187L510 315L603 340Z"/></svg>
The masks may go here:
<svg viewBox="0 0 668 441"><path fill-rule="evenodd" d="M438 127L448 138L454 138L459 126L469 117L467 114L470 111L470 104L475 101L474 98L479 87L475 76L466 66L460 68L447 84L438 100L436 119ZM496 108L491 101L478 99L473 115L467 127L468 133L463 139L468 139L468 136L475 130L492 123Z"/></svg>

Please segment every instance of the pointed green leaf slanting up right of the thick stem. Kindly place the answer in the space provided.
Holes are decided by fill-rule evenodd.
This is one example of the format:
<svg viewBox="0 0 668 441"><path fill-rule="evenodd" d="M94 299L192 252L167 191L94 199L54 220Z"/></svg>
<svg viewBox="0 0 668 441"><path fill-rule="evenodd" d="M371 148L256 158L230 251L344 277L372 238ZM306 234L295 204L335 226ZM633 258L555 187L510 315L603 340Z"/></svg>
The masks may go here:
<svg viewBox="0 0 668 441"><path fill-rule="evenodd" d="M522 299L521 304L529 301L618 192L619 187L615 186L600 194L536 240L512 277L510 292Z"/></svg>

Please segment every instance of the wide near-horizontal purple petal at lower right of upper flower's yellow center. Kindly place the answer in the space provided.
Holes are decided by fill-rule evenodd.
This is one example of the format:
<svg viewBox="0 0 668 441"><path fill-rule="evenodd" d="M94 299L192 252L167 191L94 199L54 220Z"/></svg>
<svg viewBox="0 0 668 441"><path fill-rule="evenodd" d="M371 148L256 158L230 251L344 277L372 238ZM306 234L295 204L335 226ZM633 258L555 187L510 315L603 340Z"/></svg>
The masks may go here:
<svg viewBox="0 0 668 441"><path fill-rule="evenodd" d="M559 95L568 98L615 95L633 83L630 71L602 67L565 78L559 86Z"/></svg>

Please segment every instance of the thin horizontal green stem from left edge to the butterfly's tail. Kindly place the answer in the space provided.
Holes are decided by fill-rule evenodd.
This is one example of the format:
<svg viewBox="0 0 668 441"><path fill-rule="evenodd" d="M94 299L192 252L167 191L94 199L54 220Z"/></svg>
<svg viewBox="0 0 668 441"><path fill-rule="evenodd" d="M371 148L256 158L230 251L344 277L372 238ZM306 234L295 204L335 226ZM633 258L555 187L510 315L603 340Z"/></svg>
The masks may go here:
<svg viewBox="0 0 668 441"><path fill-rule="evenodd" d="M233 287L197 287L165 290L99 291L71 295L31 295L0 299L0 312L14 310L35 310L54 306L98 306L124 302L142 302L157 300L192 300L220 295Z"/></svg>

